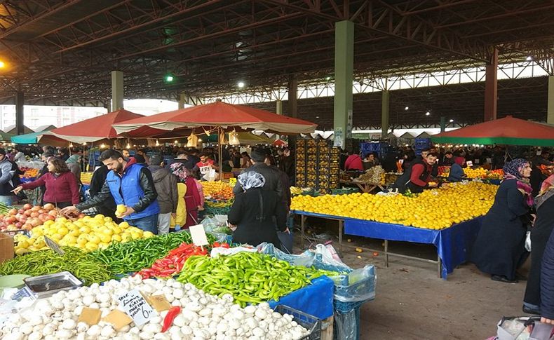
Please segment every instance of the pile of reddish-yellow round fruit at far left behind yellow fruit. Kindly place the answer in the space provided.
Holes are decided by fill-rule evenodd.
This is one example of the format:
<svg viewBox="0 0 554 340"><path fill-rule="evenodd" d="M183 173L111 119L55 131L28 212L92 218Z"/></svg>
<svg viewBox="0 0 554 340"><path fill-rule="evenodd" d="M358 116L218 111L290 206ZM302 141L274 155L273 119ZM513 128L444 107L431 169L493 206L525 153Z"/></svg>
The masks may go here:
<svg viewBox="0 0 554 340"><path fill-rule="evenodd" d="M26 204L19 210L11 209L7 214L0 215L0 230L31 230L46 221L54 221L58 215L58 209L53 204L47 203L43 207Z"/></svg>

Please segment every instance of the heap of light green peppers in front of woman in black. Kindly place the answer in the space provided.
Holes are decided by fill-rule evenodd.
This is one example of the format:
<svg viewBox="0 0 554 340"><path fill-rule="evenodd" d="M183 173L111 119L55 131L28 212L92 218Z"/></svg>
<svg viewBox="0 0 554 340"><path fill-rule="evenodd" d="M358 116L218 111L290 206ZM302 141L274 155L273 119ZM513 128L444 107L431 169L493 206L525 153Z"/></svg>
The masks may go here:
<svg viewBox="0 0 554 340"><path fill-rule="evenodd" d="M291 266L287 261L266 254L239 252L215 258L189 257L177 281L192 283L219 297L231 294L237 304L246 306L271 299L278 301L323 275L337 276L339 273Z"/></svg>

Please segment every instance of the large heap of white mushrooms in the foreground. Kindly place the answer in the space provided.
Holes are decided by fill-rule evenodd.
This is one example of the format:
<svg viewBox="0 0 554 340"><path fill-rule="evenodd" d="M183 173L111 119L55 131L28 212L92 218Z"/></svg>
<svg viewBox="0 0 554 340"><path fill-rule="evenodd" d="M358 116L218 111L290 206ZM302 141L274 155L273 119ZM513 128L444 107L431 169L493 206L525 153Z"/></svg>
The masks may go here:
<svg viewBox="0 0 554 340"><path fill-rule="evenodd" d="M90 327L84 322L77 323L83 307L99 308L102 317L114 309L123 311L116 297L133 289L144 294L163 294L172 306L182 308L167 332L161 333L167 311L154 311L154 316L146 324L136 326L132 322L119 332L103 321ZM292 315L274 312L269 304L241 308L233 303L229 294L219 299L189 283L183 285L173 279L142 280L140 276L58 292L53 297L36 301L31 310L10 316L0 328L0 339L294 340L309 334L292 321Z"/></svg>

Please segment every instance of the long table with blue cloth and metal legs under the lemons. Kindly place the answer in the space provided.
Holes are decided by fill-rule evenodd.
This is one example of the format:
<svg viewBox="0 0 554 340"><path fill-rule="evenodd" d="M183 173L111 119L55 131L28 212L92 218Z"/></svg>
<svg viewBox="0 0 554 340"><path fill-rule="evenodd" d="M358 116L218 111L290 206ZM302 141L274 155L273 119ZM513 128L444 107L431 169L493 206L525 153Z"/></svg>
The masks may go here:
<svg viewBox="0 0 554 340"><path fill-rule="evenodd" d="M482 217L478 217L466 222L454 224L446 229L433 230L304 211L294 211L294 213L301 215L302 233L304 233L306 217L333 219L339 222L340 249L342 249L343 229L344 233L347 235L381 239L385 241L385 266L389 265L389 255L424 260L437 264L438 277L444 280L447 279L449 273L454 271L456 266L468 261L469 251L475 242L475 238L477 238L482 222ZM437 247L437 260L421 259L419 257L391 253L389 252L389 240L435 245L435 247Z"/></svg>

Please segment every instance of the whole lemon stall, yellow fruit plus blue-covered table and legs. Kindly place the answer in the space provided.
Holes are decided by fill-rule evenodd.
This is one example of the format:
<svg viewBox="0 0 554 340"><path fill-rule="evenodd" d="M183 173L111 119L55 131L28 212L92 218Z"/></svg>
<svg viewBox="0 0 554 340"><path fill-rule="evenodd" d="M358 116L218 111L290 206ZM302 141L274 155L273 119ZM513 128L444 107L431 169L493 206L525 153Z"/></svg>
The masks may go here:
<svg viewBox="0 0 554 340"><path fill-rule="evenodd" d="M480 229L480 216L492 206L496 188L469 182L412 197L395 193L296 196L291 210L301 215L302 233L307 217L338 221L341 247L343 233L385 240L387 264L389 255L405 257L389 252L389 240L433 244L437 261L425 261L437 264L438 276L446 279L455 266L468 259L467 252Z"/></svg>

